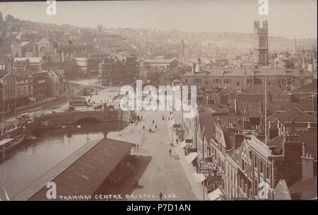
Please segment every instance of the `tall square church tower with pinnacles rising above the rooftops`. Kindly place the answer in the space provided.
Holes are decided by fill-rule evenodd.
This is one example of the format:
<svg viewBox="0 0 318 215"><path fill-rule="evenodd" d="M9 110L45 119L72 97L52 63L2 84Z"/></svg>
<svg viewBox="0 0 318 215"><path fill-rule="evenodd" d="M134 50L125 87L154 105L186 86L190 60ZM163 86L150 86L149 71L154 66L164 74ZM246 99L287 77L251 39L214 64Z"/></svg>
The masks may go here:
<svg viewBox="0 0 318 215"><path fill-rule="evenodd" d="M259 26L259 21L254 21L254 57L256 66L269 64L269 40L267 21Z"/></svg>

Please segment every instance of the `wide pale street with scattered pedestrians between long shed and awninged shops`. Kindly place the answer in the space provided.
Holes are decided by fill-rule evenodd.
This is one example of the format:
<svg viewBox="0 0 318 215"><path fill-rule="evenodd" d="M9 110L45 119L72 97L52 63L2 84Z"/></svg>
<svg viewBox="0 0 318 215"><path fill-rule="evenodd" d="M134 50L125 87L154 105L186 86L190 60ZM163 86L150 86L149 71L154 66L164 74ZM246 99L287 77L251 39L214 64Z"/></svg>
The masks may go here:
<svg viewBox="0 0 318 215"><path fill-rule="evenodd" d="M134 151L136 155L136 176L127 180L120 187L105 187L103 194L129 194L128 200L158 200L162 192L163 200L195 200L193 187L187 178L181 160L176 157L174 147L170 147L171 129L167 120L167 111L143 111L137 112L143 119L136 125L127 127L122 132L108 138L130 141L139 144L139 149ZM162 117L165 116L165 120ZM158 129L155 130L155 124ZM143 130L143 125L146 129ZM152 129L152 133L148 129ZM175 139L174 139L175 141ZM169 149L172 149L170 156ZM140 187L134 189L134 180L139 181ZM138 198L148 194L148 197ZM135 197L137 197L135 199Z"/></svg>

